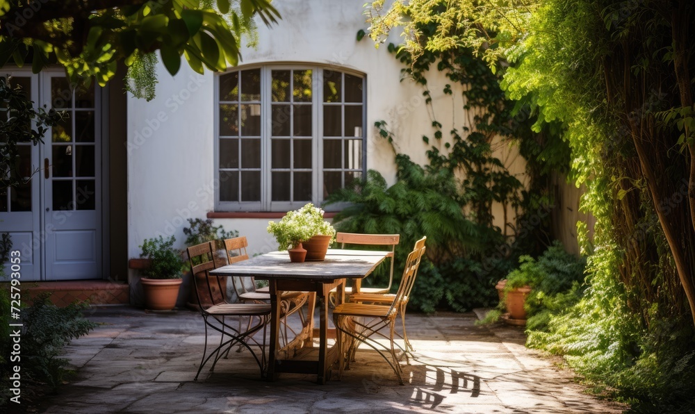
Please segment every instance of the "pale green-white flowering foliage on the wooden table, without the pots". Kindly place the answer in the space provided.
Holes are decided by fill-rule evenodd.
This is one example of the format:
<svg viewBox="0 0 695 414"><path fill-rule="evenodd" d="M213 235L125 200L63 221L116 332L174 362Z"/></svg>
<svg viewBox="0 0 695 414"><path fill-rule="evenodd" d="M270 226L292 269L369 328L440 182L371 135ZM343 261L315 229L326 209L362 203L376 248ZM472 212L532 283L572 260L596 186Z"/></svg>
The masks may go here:
<svg viewBox="0 0 695 414"><path fill-rule="evenodd" d="M268 233L275 235L278 248L287 250L315 235L330 235L336 239L336 229L323 220L324 211L307 203L299 210L288 211L279 222L268 222Z"/></svg>

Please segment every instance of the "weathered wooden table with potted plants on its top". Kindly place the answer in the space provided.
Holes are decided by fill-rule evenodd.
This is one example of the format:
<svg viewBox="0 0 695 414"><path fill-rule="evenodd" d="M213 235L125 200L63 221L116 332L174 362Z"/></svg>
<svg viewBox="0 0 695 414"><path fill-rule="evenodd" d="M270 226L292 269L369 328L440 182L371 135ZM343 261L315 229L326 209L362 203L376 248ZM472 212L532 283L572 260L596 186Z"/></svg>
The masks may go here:
<svg viewBox="0 0 695 414"><path fill-rule="evenodd" d="M345 280L361 280L382 263L388 251L329 249L326 259L316 262L291 263L286 251L272 251L210 274L215 276L254 276L268 280L270 287L270 351L268 379L274 381L280 372L317 374L318 383L328 379L329 369L338 358L336 347L328 348L328 295L336 288L337 301L343 301ZM309 292L306 322L302 331L285 347L279 347L280 297L284 291ZM318 360L307 358L313 351L313 313L318 297L319 347ZM315 352L313 353L315 354Z"/></svg>

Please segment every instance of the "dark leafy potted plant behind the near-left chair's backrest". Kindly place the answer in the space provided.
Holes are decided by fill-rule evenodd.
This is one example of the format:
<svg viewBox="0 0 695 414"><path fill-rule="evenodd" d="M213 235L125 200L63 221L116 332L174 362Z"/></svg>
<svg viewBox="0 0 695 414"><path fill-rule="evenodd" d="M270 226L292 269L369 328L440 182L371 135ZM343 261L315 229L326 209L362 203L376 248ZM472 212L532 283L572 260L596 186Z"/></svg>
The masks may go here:
<svg viewBox="0 0 695 414"><path fill-rule="evenodd" d="M224 227L222 225L220 226L213 226L213 220L212 219L200 219L200 218L195 218L195 219L188 219L188 227L183 228L183 234L186 235L186 246L195 246L199 245L200 243L204 242L215 242L215 247L217 248L217 254L213 258L215 260L215 264L220 267L224 266L227 264L227 252L224 251L224 245L222 243L222 240L228 239L228 238L234 238L239 235L238 231L232 230L232 231L226 231L224 230ZM197 263L195 263L197 264ZM188 262L184 265L184 269L186 272L190 271L190 265ZM205 277L204 275L197 274L197 275L191 275L191 277ZM192 309L197 309L198 308L198 301L196 297L196 292L195 292L195 286L199 287L199 290L205 290L205 286L207 283L204 283L204 281L199 281L197 279L197 283L194 283L191 281L190 283L190 292L188 295L188 303L186 306ZM227 278L220 278L220 286L222 288L222 292L217 292L217 283L213 283L213 288L215 289L215 292L212 292L213 297L216 297L218 299L223 299L224 298L224 291L227 290ZM205 301L210 301L210 293L209 292L201 292L199 291L199 297L201 299L205 299Z"/></svg>

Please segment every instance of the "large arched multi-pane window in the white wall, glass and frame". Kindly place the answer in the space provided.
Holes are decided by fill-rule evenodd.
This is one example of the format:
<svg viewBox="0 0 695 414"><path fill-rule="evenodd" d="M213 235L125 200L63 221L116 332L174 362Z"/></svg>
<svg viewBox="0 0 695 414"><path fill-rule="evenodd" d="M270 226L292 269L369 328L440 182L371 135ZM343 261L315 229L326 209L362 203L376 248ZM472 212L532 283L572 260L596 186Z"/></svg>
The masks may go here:
<svg viewBox="0 0 695 414"><path fill-rule="evenodd" d="M320 204L364 174L364 76L264 65L216 81L216 210Z"/></svg>

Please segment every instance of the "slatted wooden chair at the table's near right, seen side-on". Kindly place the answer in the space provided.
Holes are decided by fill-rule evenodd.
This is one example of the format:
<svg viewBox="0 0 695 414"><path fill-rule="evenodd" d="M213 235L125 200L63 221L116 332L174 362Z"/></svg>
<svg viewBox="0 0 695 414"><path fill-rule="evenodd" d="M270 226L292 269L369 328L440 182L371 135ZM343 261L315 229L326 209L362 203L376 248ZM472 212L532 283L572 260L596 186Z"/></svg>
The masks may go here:
<svg viewBox="0 0 695 414"><path fill-rule="evenodd" d="M425 240L424 237L418 240L414 250L408 255L398 292L395 293L391 305L345 303L334 309L333 321L338 330L336 341L341 352L341 356L338 358L338 376L343 376L345 365L352 361L359 343L362 342L379 352L379 355L391 365L393 372L398 376L399 383L403 384L402 370L395 353L393 338L395 318L405 310L408 298L411 296L420 259L425 253ZM379 331L386 327L389 328L390 347L386 347L373 338L373 336L385 336Z"/></svg>

